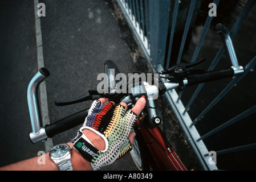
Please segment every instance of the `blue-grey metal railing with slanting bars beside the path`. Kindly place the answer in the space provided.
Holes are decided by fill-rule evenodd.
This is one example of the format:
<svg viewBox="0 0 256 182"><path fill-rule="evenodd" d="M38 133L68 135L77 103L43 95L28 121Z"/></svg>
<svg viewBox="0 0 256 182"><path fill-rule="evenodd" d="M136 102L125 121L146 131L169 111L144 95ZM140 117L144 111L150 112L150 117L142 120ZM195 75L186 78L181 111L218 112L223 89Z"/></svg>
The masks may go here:
<svg viewBox="0 0 256 182"><path fill-rule="evenodd" d="M181 1L116 0L154 72L161 72L163 69L169 68L172 64L178 64L181 63L181 61L184 61L182 60L182 56L184 56L186 40L189 39L188 35L190 28L193 26L195 21L195 14L200 12L200 3L202 3L202 1L185 1L185 8L179 8ZM218 7L220 1L221 0L213 0L212 3ZM233 27L231 27L229 32L231 39L233 39L237 34L239 28L242 26L242 23L250 13L251 9L253 9L254 5L255 0L249 0L245 3L245 6L243 6L241 9L238 18L233 23ZM210 29L213 17L214 16L208 15L203 26L201 26L201 34L197 40L197 44L190 59L192 63L196 61L198 55L200 55L200 50L204 48L204 40ZM182 32L182 36L180 36L179 39L180 45L178 49L176 45L177 42L174 42L177 31ZM177 52L176 56L173 56L174 47L176 48ZM225 47L222 45L220 49L218 49L213 60L210 61L208 71L213 71L213 69L216 68L217 64L221 60L221 57L224 55L224 52ZM246 63L243 62L243 64L245 65L245 73L243 73L241 76L233 78L229 83L227 83L223 90L220 90L213 100L210 101L210 103L205 106L205 109L202 109L202 111L200 111L196 117L192 116L196 113L193 112L192 108L198 106L196 104L196 100L199 96L203 95L204 92L209 92L209 90L203 89L205 88L205 84L200 84L197 86L197 88L194 88L193 91L189 91L189 99L183 98L184 93L183 91L180 92L179 90L171 90L165 94L165 97L172 107L178 122L184 130L186 137L188 138L193 150L202 164L202 167L205 170L218 169L218 166L212 162L212 154L216 154L218 159L218 156L221 154L230 154L231 152L239 152L243 150L255 150L256 148L256 143L254 143L256 142L256 139L253 134L249 136L252 138L252 143L246 143L247 141L243 141L239 142L240 145L235 147L226 148L226 146L222 145L218 147L221 148L220 150L214 150L209 142L207 147L205 144L205 139L209 139L209 137L216 133L220 133L220 131L223 131L238 121L242 122L245 118L253 117L253 114L256 113L256 105L250 107L251 104L246 106L244 102L237 102L237 104L243 105L243 107L241 107L242 109L246 109L240 109L240 114L235 116L233 115L231 119L227 119L226 122L222 122L219 126L215 127L214 124L209 124L210 122L216 122L214 119L212 119L212 121L210 119L209 121L202 121L204 120L204 117L213 111L213 107L216 107L216 105L222 101L228 93L230 93L230 90L233 91L233 88L239 83L239 81L242 80L241 82L244 82L246 80L244 77L246 77L247 73L249 73L256 65L256 56L250 61L246 61ZM207 67L207 65L205 67ZM246 95L246 90L245 92L241 93L241 95L242 94ZM255 101L255 98L251 99ZM186 104L184 104L185 102ZM220 110L214 109L214 111ZM230 112L228 108L226 108L226 112ZM222 116L219 115L219 117ZM201 123L200 131L198 131L198 128L196 127L198 121ZM251 121L253 121L253 118L251 118ZM204 131L202 131L202 127L204 127ZM251 126L245 125L243 127L246 129ZM231 139L225 138L225 140ZM211 142L212 141L214 141L214 139L212 139ZM211 151L209 152L210 149L208 148L211 148L214 153Z"/></svg>

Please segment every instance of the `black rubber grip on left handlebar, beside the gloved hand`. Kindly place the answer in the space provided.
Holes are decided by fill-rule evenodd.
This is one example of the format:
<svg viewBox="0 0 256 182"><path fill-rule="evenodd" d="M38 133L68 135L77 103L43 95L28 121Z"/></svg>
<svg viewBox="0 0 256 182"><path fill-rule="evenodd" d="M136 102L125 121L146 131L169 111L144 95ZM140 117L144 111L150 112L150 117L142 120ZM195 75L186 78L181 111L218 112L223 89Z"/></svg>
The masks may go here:
<svg viewBox="0 0 256 182"><path fill-rule="evenodd" d="M84 123L88 115L88 110L85 109L79 111L78 113L72 114L66 118L60 119L50 125L45 126L46 134L49 138L52 138L54 135L62 133L63 131L72 129L75 126L81 125Z"/></svg>

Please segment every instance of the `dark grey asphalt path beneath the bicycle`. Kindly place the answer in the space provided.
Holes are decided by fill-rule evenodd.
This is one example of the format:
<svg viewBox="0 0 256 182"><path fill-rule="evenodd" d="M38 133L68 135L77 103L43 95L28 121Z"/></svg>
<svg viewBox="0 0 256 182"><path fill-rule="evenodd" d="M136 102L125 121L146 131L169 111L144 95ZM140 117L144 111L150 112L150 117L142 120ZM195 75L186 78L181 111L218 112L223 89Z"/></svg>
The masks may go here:
<svg viewBox="0 0 256 182"><path fill-rule="evenodd" d="M148 68L136 51L131 31L116 18L111 0L39 2L46 5L46 16L40 17L43 50L40 59L43 58L44 67L51 73L45 81L47 103L44 103L50 122L91 105L87 101L57 107L54 101L70 100L96 88L97 75L104 72L105 60L121 65L123 73L136 71L138 65L140 69ZM48 146L30 142L27 85L40 67L34 1L5 0L0 2L0 9L0 166L5 166L68 142L75 137L78 127L48 140ZM134 55L139 60L136 64ZM136 170L136 167L127 155L101 170Z"/></svg>

